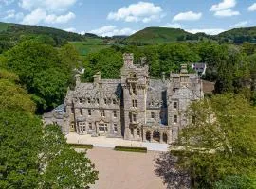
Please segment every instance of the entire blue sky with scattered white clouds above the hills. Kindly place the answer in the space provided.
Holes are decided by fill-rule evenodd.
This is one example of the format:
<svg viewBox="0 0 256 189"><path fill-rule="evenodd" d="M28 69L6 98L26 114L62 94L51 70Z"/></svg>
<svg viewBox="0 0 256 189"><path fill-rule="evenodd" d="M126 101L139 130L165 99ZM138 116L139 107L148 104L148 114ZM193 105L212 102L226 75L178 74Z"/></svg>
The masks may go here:
<svg viewBox="0 0 256 189"><path fill-rule="evenodd" d="M0 21L102 36L147 26L217 34L256 26L256 0L0 0Z"/></svg>

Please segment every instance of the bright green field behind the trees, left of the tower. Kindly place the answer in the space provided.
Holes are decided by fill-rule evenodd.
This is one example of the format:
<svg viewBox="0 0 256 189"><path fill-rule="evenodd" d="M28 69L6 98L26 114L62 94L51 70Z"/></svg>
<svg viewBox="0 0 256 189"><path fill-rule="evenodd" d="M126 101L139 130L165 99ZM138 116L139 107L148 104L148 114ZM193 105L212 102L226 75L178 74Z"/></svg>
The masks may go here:
<svg viewBox="0 0 256 189"><path fill-rule="evenodd" d="M84 42L69 42L75 46L81 56L88 53L97 52L101 49L110 47L110 44L103 43L101 38L87 38Z"/></svg>

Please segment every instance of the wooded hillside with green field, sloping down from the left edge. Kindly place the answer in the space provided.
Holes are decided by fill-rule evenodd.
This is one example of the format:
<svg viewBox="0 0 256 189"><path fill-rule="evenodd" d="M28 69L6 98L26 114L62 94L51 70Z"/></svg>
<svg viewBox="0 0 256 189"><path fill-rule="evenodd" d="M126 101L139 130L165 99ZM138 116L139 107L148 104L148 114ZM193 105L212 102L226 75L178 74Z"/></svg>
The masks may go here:
<svg viewBox="0 0 256 189"><path fill-rule="evenodd" d="M72 43L82 56L108 47L111 40L90 33L81 35L46 26L27 26L0 22L0 54L16 43L27 39L37 39L56 47L65 43Z"/></svg>

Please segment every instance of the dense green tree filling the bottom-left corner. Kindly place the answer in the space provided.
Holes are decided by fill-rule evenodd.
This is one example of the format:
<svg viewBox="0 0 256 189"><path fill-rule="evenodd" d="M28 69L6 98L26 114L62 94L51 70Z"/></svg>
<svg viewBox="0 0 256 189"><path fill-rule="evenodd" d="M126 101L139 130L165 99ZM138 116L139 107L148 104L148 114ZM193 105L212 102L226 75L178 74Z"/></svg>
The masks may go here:
<svg viewBox="0 0 256 189"><path fill-rule="evenodd" d="M41 120L27 112L0 110L0 188L37 188Z"/></svg>

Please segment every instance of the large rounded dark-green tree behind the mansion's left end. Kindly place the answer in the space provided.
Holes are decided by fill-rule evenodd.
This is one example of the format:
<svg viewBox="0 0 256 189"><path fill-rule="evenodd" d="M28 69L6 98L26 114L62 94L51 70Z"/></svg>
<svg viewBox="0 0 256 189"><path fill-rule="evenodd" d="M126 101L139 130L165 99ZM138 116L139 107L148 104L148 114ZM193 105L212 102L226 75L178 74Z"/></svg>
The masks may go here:
<svg viewBox="0 0 256 189"><path fill-rule="evenodd" d="M45 112L64 100L78 56L70 46L60 51L37 40L18 43L2 58L1 67L14 72L37 104L37 113Z"/></svg>

